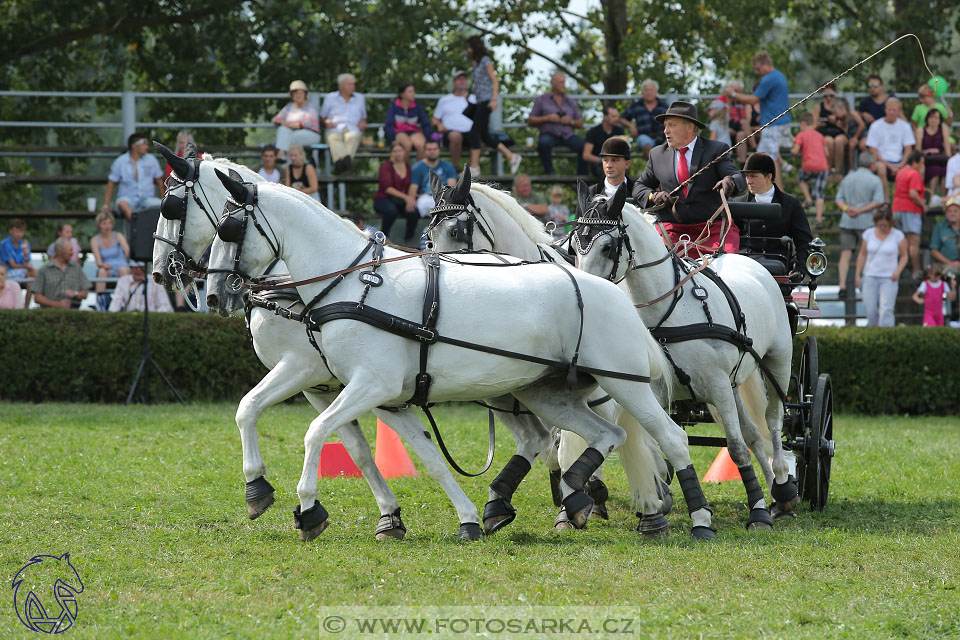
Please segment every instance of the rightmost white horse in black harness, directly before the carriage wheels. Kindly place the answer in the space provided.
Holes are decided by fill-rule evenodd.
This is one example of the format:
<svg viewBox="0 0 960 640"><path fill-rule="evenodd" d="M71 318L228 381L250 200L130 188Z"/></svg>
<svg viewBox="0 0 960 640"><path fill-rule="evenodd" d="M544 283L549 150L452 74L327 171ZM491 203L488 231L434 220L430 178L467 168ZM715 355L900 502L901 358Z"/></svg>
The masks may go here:
<svg viewBox="0 0 960 640"><path fill-rule="evenodd" d="M689 376L677 385L677 397L705 401L715 408L747 492L751 509L747 526L767 528L772 521L744 436L757 454L777 509L792 511L797 488L789 476L780 433L780 393L786 392L790 381L793 352L783 295L766 269L736 254L710 260L703 272L684 283L681 278L695 265L668 253L653 224L636 207L625 204L625 191L621 186L612 199L600 195L591 201L581 184L572 236L577 264L595 275L623 281L645 324L653 327L651 332L669 349L678 369ZM717 278L710 277L714 273ZM728 299L717 280L738 303ZM682 286L666 295L678 282ZM694 339L682 335L687 331L683 328L692 328ZM766 401L754 375L758 369L767 382ZM751 378L753 381L745 384ZM752 398L753 406L765 406L769 439L750 418L734 390L737 386L745 397ZM766 454L773 458L772 469Z"/></svg>

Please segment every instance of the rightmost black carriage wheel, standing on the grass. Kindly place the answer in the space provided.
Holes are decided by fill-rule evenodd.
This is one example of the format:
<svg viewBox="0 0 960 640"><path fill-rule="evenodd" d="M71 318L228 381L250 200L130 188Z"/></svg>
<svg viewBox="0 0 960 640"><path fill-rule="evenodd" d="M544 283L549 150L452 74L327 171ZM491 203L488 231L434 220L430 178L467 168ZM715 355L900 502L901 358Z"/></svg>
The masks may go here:
<svg viewBox="0 0 960 640"><path fill-rule="evenodd" d="M823 511L827 506L833 453L833 383L830 374L824 373L817 379L810 429L804 439L803 465L798 469L800 496L810 503L811 509Z"/></svg>

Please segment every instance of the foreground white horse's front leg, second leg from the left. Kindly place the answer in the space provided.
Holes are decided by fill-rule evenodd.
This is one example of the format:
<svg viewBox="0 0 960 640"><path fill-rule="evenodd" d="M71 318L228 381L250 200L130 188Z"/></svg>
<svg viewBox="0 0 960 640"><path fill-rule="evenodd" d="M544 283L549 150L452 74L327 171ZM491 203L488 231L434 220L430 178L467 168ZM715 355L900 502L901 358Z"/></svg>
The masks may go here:
<svg viewBox="0 0 960 640"><path fill-rule="evenodd" d="M323 443L338 426L356 420L399 395L399 384L388 385L388 381L378 379L374 372L359 372L330 406L310 423L303 437L303 471L297 483L300 504L293 512L294 525L300 530L301 539L313 540L323 533L328 524L327 511L317 500L317 469Z"/></svg>

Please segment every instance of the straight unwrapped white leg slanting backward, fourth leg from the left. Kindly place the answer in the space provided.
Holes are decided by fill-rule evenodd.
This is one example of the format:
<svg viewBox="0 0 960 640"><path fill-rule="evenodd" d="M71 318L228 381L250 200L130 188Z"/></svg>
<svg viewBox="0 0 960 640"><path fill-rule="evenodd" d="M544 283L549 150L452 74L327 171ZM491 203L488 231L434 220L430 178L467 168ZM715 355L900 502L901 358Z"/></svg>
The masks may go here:
<svg viewBox="0 0 960 640"><path fill-rule="evenodd" d="M437 450L436 445L427 437L427 432L423 429L423 423L420 422L416 414L409 409L397 412L374 409L373 413L391 429L396 431L397 434L410 445L413 452L420 458L420 462L427 468L427 472L433 476L434 480L440 484L444 493L447 494L447 497L450 498L450 502L453 503L454 508L457 510L457 517L460 518L460 531L457 534L457 539L479 540L481 533L480 525L477 523L480 522L480 516L477 513L476 505L470 501L467 494L464 493L460 485L457 484L457 481L450 473L450 469L447 467L447 463L444 462L443 457ZM390 514L388 511L381 511L381 513ZM381 526L386 517L388 516L380 517ZM399 507L397 508L396 517L399 521ZM400 526L403 526L402 523Z"/></svg>

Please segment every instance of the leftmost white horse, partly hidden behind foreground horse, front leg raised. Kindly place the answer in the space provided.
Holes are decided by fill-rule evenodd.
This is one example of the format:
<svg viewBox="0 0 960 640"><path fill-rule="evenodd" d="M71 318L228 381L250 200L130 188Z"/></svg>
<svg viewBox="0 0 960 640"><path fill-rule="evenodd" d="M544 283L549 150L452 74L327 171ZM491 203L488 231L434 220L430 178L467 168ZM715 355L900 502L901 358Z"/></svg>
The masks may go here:
<svg viewBox="0 0 960 640"><path fill-rule="evenodd" d="M185 264L197 267L196 257L202 255L213 240L220 212L227 199L227 190L217 179L214 167L236 171L250 182L264 180L258 173L242 165L213 159L206 154L200 158L195 149L188 149L187 157L179 158L163 145L157 144L157 148L170 163L173 174L164 194L163 215L157 223L153 277L168 288L184 286L192 278L189 274L180 273L179 267ZM284 269L280 263L279 271ZM284 306L296 312L302 309L303 303L296 296L294 298L284 302ZM265 479L267 468L260 455L257 434L260 415L268 407L298 392L303 393L318 413L322 412L336 397L340 383L326 367L323 356L311 346L302 324L254 306L249 310L248 326L254 351L270 370L243 397L236 415L243 447L248 516L255 519L274 501L274 489ZM410 444L449 496L461 523L458 536L462 539L478 539L481 531L477 508L450 474L436 446L425 435L416 414L407 409L395 412L377 409L374 413ZM350 421L337 431L370 485L380 509L376 537L402 539L406 528L400 518L400 506L374 463L370 445L359 423Z"/></svg>

